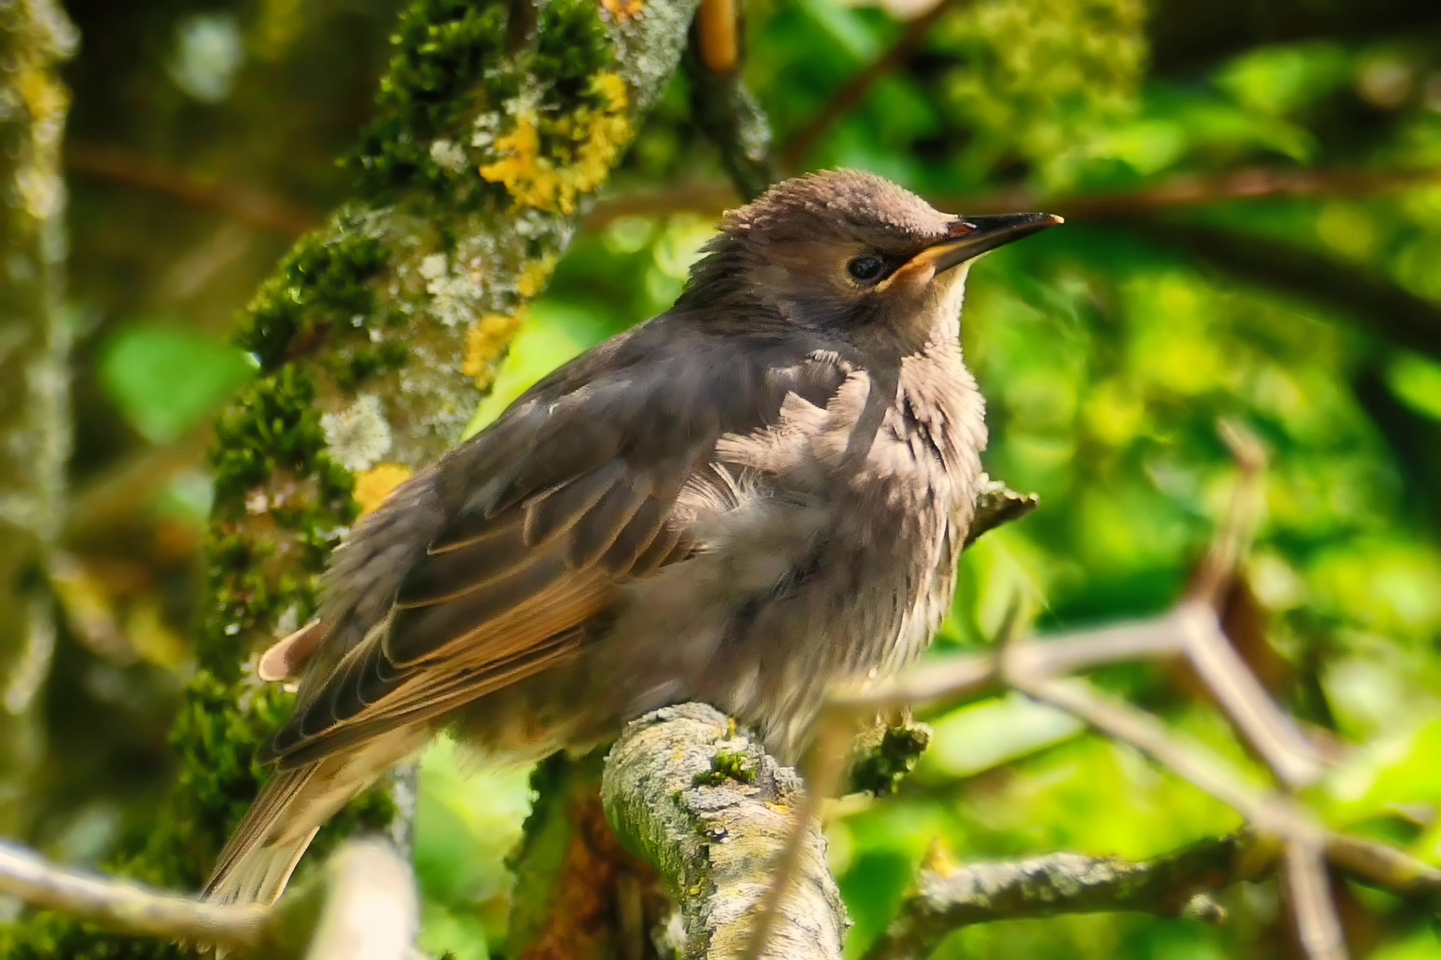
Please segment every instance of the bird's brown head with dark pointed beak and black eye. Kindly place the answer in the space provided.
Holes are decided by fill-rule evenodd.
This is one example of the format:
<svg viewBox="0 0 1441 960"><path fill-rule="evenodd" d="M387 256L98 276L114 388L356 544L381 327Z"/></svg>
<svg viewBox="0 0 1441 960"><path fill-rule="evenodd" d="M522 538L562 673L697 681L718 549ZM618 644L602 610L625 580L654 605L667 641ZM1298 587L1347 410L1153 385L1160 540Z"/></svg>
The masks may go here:
<svg viewBox="0 0 1441 960"><path fill-rule="evenodd" d="M1056 223L941 213L869 173L808 174L726 213L680 305L739 301L847 338L922 345L955 328L971 261Z"/></svg>

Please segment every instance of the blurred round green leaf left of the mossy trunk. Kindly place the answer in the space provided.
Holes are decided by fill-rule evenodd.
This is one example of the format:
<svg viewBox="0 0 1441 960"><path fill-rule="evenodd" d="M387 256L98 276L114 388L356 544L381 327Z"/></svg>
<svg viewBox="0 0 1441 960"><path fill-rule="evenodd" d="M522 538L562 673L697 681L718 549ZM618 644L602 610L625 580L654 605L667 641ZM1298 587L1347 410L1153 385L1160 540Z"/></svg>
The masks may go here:
<svg viewBox="0 0 1441 960"><path fill-rule="evenodd" d="M254 370L235 347L150 324L122 330L99 360L101 383L110 399L154 443L184 433L249 380Z"/></svg>

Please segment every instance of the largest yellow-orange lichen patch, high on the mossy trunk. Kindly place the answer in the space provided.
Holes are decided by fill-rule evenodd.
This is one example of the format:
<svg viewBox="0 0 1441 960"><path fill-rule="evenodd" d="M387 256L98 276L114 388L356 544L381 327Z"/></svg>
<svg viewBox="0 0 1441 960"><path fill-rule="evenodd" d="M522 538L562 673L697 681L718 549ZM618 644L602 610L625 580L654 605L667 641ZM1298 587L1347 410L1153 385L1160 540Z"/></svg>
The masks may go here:
<svg viewBox="0 0 1441 960"><path fill-rule="evenodd" d="M514 128L496 138L500 158L481 167L480 176L504 184L517 206L575 213L576 199L605 183L631 138L625 81L597 73L591 95L598 108L582 107L555 119L535 111L516 115Z"/></svg>

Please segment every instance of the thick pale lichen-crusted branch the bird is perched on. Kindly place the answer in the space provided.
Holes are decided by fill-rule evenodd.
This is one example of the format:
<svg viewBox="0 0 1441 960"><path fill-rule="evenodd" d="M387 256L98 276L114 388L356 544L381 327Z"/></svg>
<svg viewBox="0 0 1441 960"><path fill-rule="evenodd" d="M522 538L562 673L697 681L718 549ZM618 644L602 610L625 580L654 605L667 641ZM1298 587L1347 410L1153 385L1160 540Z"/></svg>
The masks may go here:
<svg viewBox="0 0 1441 960"><path fill-rule="evenodd" d="M654 866L682 907L686 956L732 960L749 934L777 853L804 790L794 770L735 734L702 704L657 710L615 743L602 782L605 815L621 842ZM762 956L839 959L847 927L813 822L798 882Z"/></svg>

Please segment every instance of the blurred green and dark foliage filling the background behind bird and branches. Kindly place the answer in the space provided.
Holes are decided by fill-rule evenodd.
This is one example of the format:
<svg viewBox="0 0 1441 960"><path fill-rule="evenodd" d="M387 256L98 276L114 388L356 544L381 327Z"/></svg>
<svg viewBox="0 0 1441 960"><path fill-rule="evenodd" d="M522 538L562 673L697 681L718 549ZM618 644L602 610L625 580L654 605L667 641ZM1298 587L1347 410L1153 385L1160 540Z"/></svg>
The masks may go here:
<svg viewBox="0 0 1441 960"><path fill-rule="evenodd" d="M85 33L72 142L124 147L200 183L264 187L303 210L344 196L353 171L330 161L375 119L365 104L398 4L229 0L203 22L180 0L127 14L99 0L68 6ZM1441 168L1441 12L1391 0L1261 6L1265 16L1183 0L953 4L804 164L875 170L961 213L967 203L1092 201L971 273L964 343L989 400L986 465L1038 492L1042 510L967 553L937 655L989 645L1017 599L1039 632L1174 603L1233 484L1216 423L1239 420L1271 456L1245 564L1265 643L1242 653L1337 744L1336 769L1308 800L1334 826L1441 864L1441 181L1414 177ZM899 0L748 4L745 76L778 142L880 58L906 16ZM473 430L680 292L723 186L689 119L693 82L679 76L640 132L611 189L617 206L561 262ZM285 109L272 119L277 104ZM1222 189L1258 170L1311 174L1314 186L1257 199ZM1360 190L1360 180L1385 189ZM1160 191L1176 184L1185 203ZM288 237L233 204L186 207L135 177L81 170L73 191L84 489L241 386L248 364L220 345L226 318ZM673 212L627 212L637 193L660 193ZM1342 302L1308 294L1304 278L1272 285L1264 258L1241 271L1179 242L1200 229L1238 249L1304 256L1319 291L1353 276L1379 286L1357 285ZM1380 288L1417 298L1429 341L1392 338L1382 301L1368 299ZM187 325L159 327L159 315ZM147 589L184 596L199 544L196 522L163 508L176 495L176 484L159 484L127 525L73 548L97 569L122 556ZM167 607L179 629L192 612ZM107 656L78 630L62 638L52 750L71 761L45 784L53 802L35 836L91 859L107 841L75 839L95 833L82 810L114 806L110 842L144 829L167 771L169 718L154 704L174 702L153 678L160 668ZM1176 672L1115 668L1099 681L1261 777ZM829 828L856 921L852 951L885 927L932 843L963 861L1150 856L1238 823L1131 750L1019 697L934 727L896 796ZM117 750L141 761L102 763ZM504 853L529 786L523 770L471 773L458 753L441 743L422 764L424 944L478 960L504 943ZM1385 895L1340 897L1356 956L1441 954L1425 917ZM1215 928L1134 915L1004 923L963 931L938 956L1287 956L1274 884L1241 885L1223 902L1232 920Z"/></svg>

